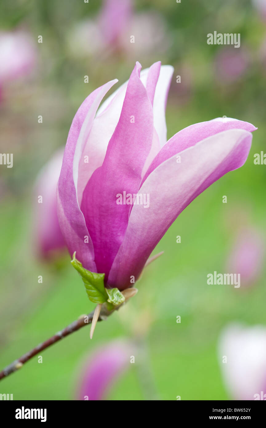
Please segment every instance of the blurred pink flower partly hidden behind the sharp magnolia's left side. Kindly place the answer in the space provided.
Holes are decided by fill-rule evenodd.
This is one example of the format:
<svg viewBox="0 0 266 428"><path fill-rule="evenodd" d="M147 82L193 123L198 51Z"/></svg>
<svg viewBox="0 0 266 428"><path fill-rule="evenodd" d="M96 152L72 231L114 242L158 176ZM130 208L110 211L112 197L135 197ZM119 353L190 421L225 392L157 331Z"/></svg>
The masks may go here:
<svg viewBox="0 0 266 428"><path fill-rule="evenodd" d="M65 248L56 213L56 185L62 166L63 150L59 149L41 169L35 184L35 247L43 258Z"/></svg>

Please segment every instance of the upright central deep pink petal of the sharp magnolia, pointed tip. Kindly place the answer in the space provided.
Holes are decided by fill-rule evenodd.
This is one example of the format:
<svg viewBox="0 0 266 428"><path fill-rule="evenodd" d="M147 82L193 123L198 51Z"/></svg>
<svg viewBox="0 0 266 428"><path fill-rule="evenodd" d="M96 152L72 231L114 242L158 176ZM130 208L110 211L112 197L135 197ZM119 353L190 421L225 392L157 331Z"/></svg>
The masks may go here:
<svg viewBox="0 0 266 428"><path fill-rule="evenodd" d="M109 142L103 165L92 175L83 193L81 209L92 237L98 272L106 273L127 228L130 205L117 205L117 194L137 193L142 169L151 150L153 111L140 64L130 76L121 116ZM130 119L134 116L134 123Z"/></svg>

